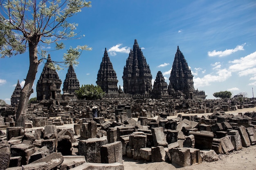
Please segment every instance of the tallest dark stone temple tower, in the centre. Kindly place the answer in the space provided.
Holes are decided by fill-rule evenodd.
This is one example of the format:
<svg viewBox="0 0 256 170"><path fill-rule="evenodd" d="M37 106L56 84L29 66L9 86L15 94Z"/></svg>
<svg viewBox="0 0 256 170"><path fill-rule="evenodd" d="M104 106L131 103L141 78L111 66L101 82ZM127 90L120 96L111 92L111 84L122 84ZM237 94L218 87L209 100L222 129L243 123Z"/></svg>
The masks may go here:
<svg viewBox="0 0 256 170"><path fill-rule="evenodd" d="M151 71L136 39L133 49L131 49L126 60L122 78L124 81L124 93L131 95L151 94Z"/></svg>

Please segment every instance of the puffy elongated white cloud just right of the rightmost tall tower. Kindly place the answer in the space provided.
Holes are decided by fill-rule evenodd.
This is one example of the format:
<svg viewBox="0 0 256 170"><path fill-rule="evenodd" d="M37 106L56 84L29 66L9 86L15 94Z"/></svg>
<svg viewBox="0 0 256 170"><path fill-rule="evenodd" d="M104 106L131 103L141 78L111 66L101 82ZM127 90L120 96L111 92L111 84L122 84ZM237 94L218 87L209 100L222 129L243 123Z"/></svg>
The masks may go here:
<svg viewBox="0 0 256 170"><path fill-rule="evenodd" d="M202 78L195 78L194 86L200 87L200 86L209 86L211 82L224 82L226 79L231 77L231 71L228 71L227 69L218 70L216 72L217 75L213 74L207 74Z"/></svg>

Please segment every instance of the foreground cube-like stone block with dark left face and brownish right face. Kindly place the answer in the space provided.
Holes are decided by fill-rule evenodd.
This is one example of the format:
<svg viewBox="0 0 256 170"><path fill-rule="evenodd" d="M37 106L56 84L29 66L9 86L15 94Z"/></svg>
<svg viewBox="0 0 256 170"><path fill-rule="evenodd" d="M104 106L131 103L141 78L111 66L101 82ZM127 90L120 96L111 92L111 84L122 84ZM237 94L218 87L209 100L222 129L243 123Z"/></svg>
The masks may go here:
<svg viewBox="0 0 256 170"><path fill-rule="evenodd" d="M101 163L115 163L115 162L123 163L121 141L102 145L100 150L101 150Z"/></svg>

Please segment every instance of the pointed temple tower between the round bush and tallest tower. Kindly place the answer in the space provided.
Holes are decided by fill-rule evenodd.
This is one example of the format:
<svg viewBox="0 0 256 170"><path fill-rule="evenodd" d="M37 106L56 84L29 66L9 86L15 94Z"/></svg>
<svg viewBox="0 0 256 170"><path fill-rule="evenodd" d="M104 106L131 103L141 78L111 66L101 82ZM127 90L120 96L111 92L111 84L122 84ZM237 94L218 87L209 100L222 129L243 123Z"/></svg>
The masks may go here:
<svg viewBox="0 0 256 170"><path fill-rule="evenodd" d="M117 93L117 74L113 68L112 63L110 62L110 58L108 57L107 49L105 48L105 52L102 58L102 62L99 68L99 72L97 75L97 85L101 87L101 89L110 94Z"/></svg>

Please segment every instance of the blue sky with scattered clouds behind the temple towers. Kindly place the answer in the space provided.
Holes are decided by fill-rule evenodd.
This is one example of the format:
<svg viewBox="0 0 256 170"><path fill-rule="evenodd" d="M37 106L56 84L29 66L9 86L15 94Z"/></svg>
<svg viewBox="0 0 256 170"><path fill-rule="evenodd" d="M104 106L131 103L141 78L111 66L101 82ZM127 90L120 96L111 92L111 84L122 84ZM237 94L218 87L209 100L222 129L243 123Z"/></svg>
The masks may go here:
<svg viewBox="0 0 256 170"><path fill-rule="evenodd" d="M64 41L69 46L87 44L75 72L80 85L96 85L97 73L107 48L123 86L128 53L137 39L150 66L153 81L161 71L169 84L177 46L193 74L195 89L213 93L231 91L256 96L256 3L254 0L111 0L94 1L71 18L85 37ZM54 45L47 46L53 50ZM50 51L52 60L61 61L65 50ZM38 67L34 82L43 70ZM18 79L23 84L29 68L28 53L0 59L0 99L10 104ZM67 68L58 71L64 82ZM63 87L61 87L62 89Z"/></svg>

